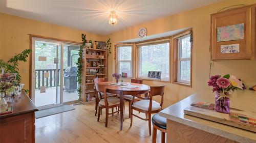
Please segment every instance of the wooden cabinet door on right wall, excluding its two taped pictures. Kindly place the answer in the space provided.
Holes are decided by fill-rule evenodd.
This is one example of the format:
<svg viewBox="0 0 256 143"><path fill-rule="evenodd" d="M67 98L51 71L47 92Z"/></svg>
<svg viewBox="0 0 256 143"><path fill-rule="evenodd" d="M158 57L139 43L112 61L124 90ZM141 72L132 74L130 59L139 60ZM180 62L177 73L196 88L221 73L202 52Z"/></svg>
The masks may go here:
<svg viewBox="0 0 256 143"><path fill-rule="evenodd" d="M254 21L253 7L243 7L226 12L220 12L211 15L211 60L241 60L251 59L252 57L252 18ZM218 27L229 25L244 24L244 38L241 40L217 41ZM254 36L253 36L254 37ZM254 39L253 39L254 40ZM221 53L221 45L239 44L239 52L236 53ZM253 47L254 48L254 47Z"/></svg>

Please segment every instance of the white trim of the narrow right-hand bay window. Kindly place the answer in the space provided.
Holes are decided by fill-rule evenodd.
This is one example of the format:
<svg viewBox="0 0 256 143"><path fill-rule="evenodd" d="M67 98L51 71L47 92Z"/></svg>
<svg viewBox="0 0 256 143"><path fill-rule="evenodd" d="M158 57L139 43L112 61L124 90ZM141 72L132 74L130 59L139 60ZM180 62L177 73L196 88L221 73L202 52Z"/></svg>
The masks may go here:
<svg viewBox="0 0 256 143"><path fill-rule="evenodd" d="M177 74L178 74L178 77L177 77L177 81L178 82L182 82L182 83L186 83L186 84L191 84L191 73L190 73L190 78L189 78L189 80L182 80L181 78L180 78L180 63L181 63L181 61L190 61L190 63L191 63L191 55L190 55L190 58L180 58L180 55L181 55L181 50L180 50L180 48L181 48L181 39L183 39L183 38L187 38L187 37L190 37L190 34L187 34L187 35L185 35L185 36L182 36L182 37L179 37L178 38L178 69L177 69ZM191 50L191 47L190 47L190 50ZM191 69L191 64L190 64L190 69Z"/></svg>

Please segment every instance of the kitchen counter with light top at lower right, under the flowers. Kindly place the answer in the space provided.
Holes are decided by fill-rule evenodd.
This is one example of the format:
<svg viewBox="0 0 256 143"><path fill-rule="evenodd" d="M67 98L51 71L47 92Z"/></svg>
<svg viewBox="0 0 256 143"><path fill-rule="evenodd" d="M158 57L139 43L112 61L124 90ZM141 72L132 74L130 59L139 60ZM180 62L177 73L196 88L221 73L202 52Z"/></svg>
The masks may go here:
<svg viewBox="0 0 256 143"><path fill-rule="evenodd" d="M256 112L256 92L250 91L250 90L239 90L235 92L233 95L233 98L230 100L230 107L237 108L244 111L251 111ZM215 94L211 92L211 90L201 90L196 92L195 94L173 104L172 106L169 106L162 111L159 112L159 115L167 119L167 141L170 142L194 142L196 138L193 137L197 135L198 138L204 138L207 136L207 138L204 138L204 141L208 140L226 140L226 142L256 142L256 133L243 130L240 128L228 126L225 124L189 116L184 114L184 108L189 106L193 102L209 102L209 103L215 103ZM169 134L168 135L168 128L169 132L174 132L171 126L174 126L175 124L179 126L184 126L185 128L191 128L194 131L189 133L189 136L184 136L185 131L183 130L183 136L178 137L179 131L175 129L176 133ZM179 127L181 128L181 127ZM178 128L178 129L179 129ZM185 129L183 128L183 129ZM189 129L188 129L189 130ZM181 132L181 131L180 131ZM201 132L200 134L198 134ZM195 134L197 133L197 134ZM204 134L204 135L203 135ZM186 138L187 139L184 139ZM210 139L210 137L214 137L215 139ZM179 141L179 139L181 139ZM190 141L188 141L190 140ZM195 142L198 142L200 140L197 140ZM201 140L202 141L202 140ZM215 142L215 141L210 141ZM218 141L216 141L218 142Z"/></svg>

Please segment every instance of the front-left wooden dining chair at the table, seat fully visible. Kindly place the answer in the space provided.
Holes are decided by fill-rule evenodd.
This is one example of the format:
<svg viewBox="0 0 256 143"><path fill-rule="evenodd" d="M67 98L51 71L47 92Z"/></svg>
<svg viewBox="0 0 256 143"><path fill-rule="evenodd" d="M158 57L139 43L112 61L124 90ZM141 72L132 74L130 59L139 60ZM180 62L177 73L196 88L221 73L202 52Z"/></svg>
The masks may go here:
<svg viewBox="0 0 256 143"><path fill-rule="evenodd" d="M120 110L120 99L114 96L108 97L106 94L106 85L99 85L98 83L95 83L95 88L98 92L104 93L104 99L99 100L98 106L99 106L99 111L98 111L98 122L100 118L100 113L101 109L105 108L105 127L108 127L108 120L109 120L109 115L114 115L114 113L118 113ZM98 98L98 97L96 97ZM118 107L116 111L113 110L114 107ZM112 112L109 113L109 109L112 109Z"/></svg>

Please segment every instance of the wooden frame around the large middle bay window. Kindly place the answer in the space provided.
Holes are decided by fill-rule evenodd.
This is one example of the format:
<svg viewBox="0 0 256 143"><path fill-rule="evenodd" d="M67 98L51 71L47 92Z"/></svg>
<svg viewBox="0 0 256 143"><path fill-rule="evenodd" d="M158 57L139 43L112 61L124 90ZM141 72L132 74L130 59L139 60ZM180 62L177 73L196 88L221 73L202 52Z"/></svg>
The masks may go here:
<svg viewBox="0 0 256 143"><path fill-rule="evenodd" d="M171 37L163 37L163 38L158 38L158 39L152 39L152 40L147 40L147 41L140 41L140 42L136 42L135 43L135 47L136 47L136 78L139 79L143 79L143 80L149 80L149 81L161 81L161 82L172 82L172 38ZM163 43L169 43L169 79L153 79L153 78L147 78L147 77L140 77L139 73L140 73L140 46L143 45L156 45L156 44L163 44Z"/></svg>

